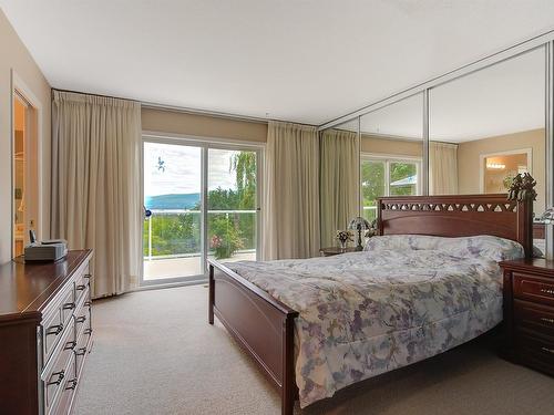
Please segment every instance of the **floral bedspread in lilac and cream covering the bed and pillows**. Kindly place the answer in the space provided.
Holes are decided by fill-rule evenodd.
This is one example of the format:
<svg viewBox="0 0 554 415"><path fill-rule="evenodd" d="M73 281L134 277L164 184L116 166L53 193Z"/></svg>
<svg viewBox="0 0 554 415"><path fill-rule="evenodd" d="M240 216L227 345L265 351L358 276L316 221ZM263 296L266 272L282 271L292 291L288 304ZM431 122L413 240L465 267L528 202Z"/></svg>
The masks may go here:
<svg viewBox="0 0 554 415"><path fill-rule="evenodd" d="M362 252L227 267L299 312L300 406L433 356L502 320L497 261L523 256L490 236L371 238Z"/></svg>

